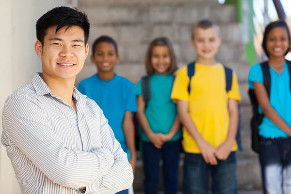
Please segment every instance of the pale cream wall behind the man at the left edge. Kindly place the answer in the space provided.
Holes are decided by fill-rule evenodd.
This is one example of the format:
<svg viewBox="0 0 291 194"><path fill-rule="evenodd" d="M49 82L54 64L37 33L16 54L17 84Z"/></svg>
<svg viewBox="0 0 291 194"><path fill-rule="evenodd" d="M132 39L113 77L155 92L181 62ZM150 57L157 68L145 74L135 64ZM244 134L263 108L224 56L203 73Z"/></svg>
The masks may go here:
<svg viewBox="0 0 291 194"><path fill-rule="evenodd" d="M0 0L0 111L5 99L41 70L34 52L35 22L49 9L67 0ZM2 123L0 119L0 133ZM6 149L0 144L0 193L20 194Z"/></svg>

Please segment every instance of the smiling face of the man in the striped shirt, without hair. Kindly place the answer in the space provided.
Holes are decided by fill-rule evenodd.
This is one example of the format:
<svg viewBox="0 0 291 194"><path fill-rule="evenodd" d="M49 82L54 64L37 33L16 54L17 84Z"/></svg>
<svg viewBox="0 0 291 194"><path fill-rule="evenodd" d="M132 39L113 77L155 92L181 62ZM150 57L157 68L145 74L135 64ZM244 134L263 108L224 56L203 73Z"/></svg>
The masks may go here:
<svg viewBox="0 0 291 194"><path fill-rule="evenodd" d="M73 26L55 33L57 26L50 27L44 44L35 43L35 52L41 57L43 74L57 80L75 79L88 55L88 44L84 44L84 31Z"/></svg>

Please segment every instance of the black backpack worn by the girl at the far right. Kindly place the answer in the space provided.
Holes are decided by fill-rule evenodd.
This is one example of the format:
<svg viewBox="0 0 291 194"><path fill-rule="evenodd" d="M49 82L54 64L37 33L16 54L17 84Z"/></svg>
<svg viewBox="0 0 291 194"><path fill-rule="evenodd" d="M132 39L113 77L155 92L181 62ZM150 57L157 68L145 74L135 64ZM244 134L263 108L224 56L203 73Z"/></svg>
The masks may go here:
<svg viewBox="0 0 291 194"><path fill-rule="evenodd" d="M291 75L291 61L286 60L286 63L288 65L288 71L289 75ZM262 73L263 73L263 80L264 80L264 86L266 88L268 97L270 99L270 91L271 91L271 74L270 74L270 68L268 61L265 61L260 64ZM290 79L290 91L291 91L291 79ZM251 118L251 147L252 150L256 153L259 153L259 142L260 142L260 136L259 136L259 126L263 121L264 114L259 113L259 102L257 100L257 97L255 95L255 91L253 89L249 89L248 95L251 101L252 109L253 109L253 116Z"/></svg>

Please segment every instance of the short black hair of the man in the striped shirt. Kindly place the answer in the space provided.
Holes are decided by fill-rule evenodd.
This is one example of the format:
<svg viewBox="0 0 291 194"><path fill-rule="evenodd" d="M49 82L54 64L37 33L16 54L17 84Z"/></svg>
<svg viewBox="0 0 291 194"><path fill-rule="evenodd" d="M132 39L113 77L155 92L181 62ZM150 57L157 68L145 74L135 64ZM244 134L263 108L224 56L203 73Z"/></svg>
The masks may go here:
<svg viewBox="0 0 291 194"><path fill-rule="evenodd" d="M66 27L66 30L73 26L81 27L84 31L85 45L87 44L90 33L90 23L84 12L79 11L77 8L73 9L65 6L51 9L36 21L37 40L44 44L47 30L55 25L57 26L56 33L63 27Z"/></svg>

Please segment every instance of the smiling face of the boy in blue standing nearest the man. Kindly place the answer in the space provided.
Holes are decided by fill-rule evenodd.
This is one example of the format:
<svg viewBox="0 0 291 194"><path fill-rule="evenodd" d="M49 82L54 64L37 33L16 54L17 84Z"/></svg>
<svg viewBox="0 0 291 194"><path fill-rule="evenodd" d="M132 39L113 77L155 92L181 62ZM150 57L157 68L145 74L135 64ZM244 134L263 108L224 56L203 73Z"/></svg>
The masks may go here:
<svg viewBox="0 0 291 194"><path fill-rule="evenodd" d="M114 72L115 64L119 63L119 56L117 56L113 44L101 42L96 45L91 62L97 65L98 72Z"/></svg>

